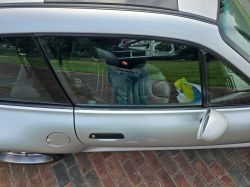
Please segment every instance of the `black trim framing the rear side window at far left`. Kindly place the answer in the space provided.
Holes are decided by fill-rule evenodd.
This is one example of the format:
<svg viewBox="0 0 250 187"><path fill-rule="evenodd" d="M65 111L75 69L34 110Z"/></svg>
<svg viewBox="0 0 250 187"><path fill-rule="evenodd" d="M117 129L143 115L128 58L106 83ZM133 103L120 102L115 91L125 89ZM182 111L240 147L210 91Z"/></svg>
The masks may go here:
<svg viewBox="0 0 250 187"><path fill-rule="evenodd" d="M17 38L17 37L30 37L34 45L36 46L39 54L41 55L46 67L48 68L49 72L51 73L51 68L49 67L47 61L44 59L43 54L41 53L40 47L38 46L38 43L36 42L36 39L34 38L34 35L32 33L22 33L22 34L0 34L1 38L4 37L11 37L11 38ZM50 64L50 63L49 63ZM66 101L68 103L49 103L49 102L39 102L39 101L22 101L22 100L14 100L14 99L1 99L0 98L0 105L12 105L12 106L29 106L29 107L39 107L39 108L63 108L63 109L68 109L72 108L74 105L71 100L68 100L68 95L65 94L63 91L63 87L58 84L56 77L54 77L54 74L51 73L51 76L55 80L55 83L58 85L59 89L62 91L62 94L64 95Z"/></svg>

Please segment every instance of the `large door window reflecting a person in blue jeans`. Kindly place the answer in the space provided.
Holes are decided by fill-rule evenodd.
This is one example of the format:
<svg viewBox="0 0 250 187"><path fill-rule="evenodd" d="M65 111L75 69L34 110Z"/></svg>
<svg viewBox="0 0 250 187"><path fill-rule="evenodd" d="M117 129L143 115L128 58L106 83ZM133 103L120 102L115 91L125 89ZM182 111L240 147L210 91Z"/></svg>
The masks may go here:
<svg viewBox="0 0 250 187"><path fill-rule="evenodd" d="M196 48L158 40L40 37L75 104L201 105Z"/></svg>

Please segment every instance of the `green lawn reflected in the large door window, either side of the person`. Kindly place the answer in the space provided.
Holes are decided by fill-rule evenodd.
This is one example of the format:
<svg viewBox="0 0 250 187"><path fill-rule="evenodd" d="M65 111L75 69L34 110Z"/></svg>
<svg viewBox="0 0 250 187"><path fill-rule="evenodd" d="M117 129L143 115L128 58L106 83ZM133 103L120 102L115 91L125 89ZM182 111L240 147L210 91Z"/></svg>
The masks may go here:
<svg viewBox="0 0 250 187"><path fill-rule="evenodd" d="M107 64L104 61L95 62L92 59L63 60L63 67L57 60L51 61L55 70L68 70L84 73L107 74ZM185 77L189 82L200 83L199 63L197 61L153 61L147 60L147 72L152 80L167 80L175 82Z"/></svg>

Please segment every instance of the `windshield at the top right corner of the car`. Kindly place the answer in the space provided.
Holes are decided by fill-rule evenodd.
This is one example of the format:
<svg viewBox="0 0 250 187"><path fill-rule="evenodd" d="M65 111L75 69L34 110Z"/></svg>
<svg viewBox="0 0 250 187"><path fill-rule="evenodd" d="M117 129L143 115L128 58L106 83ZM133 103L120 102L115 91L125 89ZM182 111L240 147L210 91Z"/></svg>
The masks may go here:
<svg viewBox="0 0 250 187"><path fill-rule="evenodd" d="M221 0L219 20L222 38L250 62L250 1Z"/></svg>

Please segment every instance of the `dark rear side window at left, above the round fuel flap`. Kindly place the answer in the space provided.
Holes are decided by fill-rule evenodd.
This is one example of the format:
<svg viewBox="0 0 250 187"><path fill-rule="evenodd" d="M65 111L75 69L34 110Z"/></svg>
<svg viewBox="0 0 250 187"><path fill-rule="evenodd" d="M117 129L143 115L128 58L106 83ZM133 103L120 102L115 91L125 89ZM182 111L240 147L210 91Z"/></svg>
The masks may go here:
<svg viewBox="0 0 250 187"><path fill-rule="evenodd" d="M0 37L0 99L67 103L29 37Z"/></svg>

